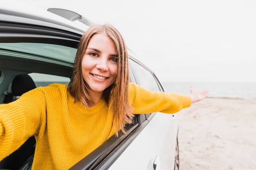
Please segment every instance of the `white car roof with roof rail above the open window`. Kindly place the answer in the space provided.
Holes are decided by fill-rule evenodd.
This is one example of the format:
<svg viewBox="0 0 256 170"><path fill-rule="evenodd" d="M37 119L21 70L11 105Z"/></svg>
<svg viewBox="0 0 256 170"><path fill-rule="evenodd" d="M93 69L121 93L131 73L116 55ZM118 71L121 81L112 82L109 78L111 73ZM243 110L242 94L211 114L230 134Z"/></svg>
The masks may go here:
<svg viewBox="0 0 256 170"><path fill-rule="evenodd" d="M68 10L62 10L63 15L61 16L60 13L56 12L57 10L52 9L46 11L18 1L15 1L15 3L13 3L13 1L4 2L0 6L0 11L2 15L0 20L2 21L8 21L9 17L12 16L12 19L16 19L16 22L28 24L33 22L33 24L51 26L53 28L61 28L66 30L70 28L73 32L77 31L77 33L83 33L89 28L90 24L93 24L90 20L88 20L88 25L79 24L76 22L81 21L82 19L86 20L85 17L82 18L82 16L77 13L76 15L80 17L76 17L76 20L74 20L74 17L72 18L73 20L68 20Z"/></svg>

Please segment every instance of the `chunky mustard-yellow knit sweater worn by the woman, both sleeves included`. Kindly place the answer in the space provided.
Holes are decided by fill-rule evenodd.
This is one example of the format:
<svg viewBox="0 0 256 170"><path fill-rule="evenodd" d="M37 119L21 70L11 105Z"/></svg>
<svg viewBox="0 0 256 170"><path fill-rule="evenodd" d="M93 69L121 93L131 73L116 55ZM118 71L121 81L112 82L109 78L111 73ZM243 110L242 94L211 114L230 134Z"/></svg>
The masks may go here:
<svg viewBox="0 0 256 170"><path fill-rule="evenodd" d="M134 114L175 113L191 105L189 96L151 92L133 83L129 95ZM66 85L38 87L0 105L0 160L34 135L32 169L68 169L114 134L106 102L101 99L92 108L74 103Z"/></svg>

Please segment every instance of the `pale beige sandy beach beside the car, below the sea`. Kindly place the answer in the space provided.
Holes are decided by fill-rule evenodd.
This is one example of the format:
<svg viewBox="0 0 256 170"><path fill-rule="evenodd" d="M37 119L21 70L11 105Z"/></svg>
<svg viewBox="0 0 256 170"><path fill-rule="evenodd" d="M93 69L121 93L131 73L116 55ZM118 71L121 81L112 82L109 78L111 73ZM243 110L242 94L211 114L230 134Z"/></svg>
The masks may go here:
<svg viewBox="0 0 256 170"><path fill-rule="evenodd" d="M206 98L178 114L180 170L256 170L256 100Z"/></svg>

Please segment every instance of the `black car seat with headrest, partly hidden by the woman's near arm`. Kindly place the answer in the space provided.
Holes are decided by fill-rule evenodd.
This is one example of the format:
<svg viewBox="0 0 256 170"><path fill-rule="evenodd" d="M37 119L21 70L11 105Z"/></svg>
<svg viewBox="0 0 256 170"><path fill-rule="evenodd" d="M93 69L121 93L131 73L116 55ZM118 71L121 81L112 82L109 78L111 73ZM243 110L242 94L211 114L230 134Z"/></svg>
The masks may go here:
<svg viewBox="0 0 256 170"><path fill-rule="evenodd" d="M11 94L9 94L9 96L12 96L12 100L10 100L9 97L8 102L12 102L13 98L16 100L17 96L21 96L34 88L36 88L36 85L28 74L19 74L15 76L11 85ZM31 157L31 155L34 155L35 146L36 139L32 136L27 139L27 141L20 146L18 150L0 161L0 170L18 170L22 164Z"/></svg>

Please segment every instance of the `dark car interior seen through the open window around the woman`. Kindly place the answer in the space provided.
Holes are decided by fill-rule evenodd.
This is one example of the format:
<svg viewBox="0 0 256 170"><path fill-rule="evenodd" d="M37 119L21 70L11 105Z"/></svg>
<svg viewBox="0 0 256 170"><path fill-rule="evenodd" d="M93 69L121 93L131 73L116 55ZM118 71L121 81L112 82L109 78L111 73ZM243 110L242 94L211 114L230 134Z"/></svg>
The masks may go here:
<svg viewBox="0 0 256 170"><path fill-rule="evenodd" d="M0 43L0 104L17 100L22 94L39 86L47 86L55 82L69 83L72 63L53 62L50 58L36 60L33 55L25 51L27 48L24 48L29 47L33 52L31 48L33 44L34 49L38 49L42 45L47 47L51 45ZM22 48L19 48L21 46ZM73 48L67 48L74 51ZM25 170L31 167L35 146L36 139L32 136L18 150L0 161L0 169Z"/></svg>

